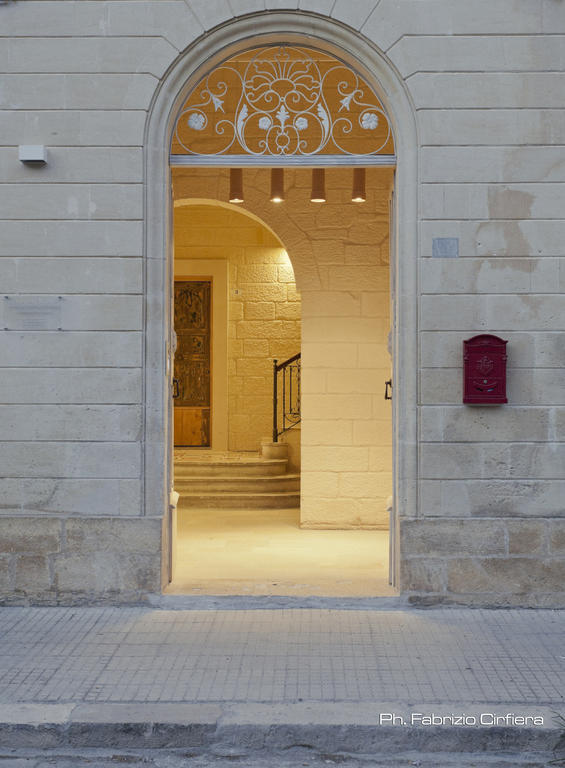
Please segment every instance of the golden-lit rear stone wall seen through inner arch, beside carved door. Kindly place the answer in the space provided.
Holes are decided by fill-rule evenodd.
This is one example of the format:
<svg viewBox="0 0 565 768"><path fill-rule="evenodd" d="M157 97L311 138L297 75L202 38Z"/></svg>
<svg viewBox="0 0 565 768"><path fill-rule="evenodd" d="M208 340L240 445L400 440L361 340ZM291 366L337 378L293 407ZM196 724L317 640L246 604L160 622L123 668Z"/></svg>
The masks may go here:
<svg viewBox="0 0 565 768"><path fill-rule="evenodd" d="M235 207L177 205L174 215L177 264L228 261L228 448L256 451L272 433L273 358L300 351L292 266L280 240Z"/></svg>

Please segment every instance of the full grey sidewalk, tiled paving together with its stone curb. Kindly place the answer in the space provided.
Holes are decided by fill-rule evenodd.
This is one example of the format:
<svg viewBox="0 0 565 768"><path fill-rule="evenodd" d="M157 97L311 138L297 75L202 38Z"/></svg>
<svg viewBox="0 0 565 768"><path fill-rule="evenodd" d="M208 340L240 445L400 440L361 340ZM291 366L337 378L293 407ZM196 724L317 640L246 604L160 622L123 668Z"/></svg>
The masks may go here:
<svg viewBox="0 0 565 768"><path fill-rule="evenodd" d="M565 611L0 609L1 746L539 752L564 696Z"/></svg>

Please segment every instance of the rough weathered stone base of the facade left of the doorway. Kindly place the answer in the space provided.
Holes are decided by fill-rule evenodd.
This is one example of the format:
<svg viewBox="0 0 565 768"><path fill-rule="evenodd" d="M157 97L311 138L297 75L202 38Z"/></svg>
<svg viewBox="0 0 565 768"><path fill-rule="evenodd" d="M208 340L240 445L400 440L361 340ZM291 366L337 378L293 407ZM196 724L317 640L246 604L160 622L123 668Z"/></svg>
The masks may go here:
<svg viewBox="0 0 565 768"><path fill-rule="evenodd" d="M157 518L2 516L0 541L2 605L137 602L160 589Z"/></svg>

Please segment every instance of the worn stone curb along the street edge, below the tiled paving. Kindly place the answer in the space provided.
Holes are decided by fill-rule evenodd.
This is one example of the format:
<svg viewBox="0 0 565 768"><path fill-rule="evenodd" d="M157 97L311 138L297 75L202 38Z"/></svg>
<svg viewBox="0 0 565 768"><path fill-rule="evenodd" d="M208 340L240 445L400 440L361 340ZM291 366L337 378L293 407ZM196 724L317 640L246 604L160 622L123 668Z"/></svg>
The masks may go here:
<svg viewBox="0 0 565 768"><path fill-rule="evenodd" d="M543 726L411 725L424 709L448 718L537 715ZM379 725L382 713L407 718L407 725ZM246 753L309 747L361 754L420 752L552 752L565 749L555 710L523 703L426 704L401 702L205 702L64 704L14 703L0 707L0 747L112 747Z"/></svg>

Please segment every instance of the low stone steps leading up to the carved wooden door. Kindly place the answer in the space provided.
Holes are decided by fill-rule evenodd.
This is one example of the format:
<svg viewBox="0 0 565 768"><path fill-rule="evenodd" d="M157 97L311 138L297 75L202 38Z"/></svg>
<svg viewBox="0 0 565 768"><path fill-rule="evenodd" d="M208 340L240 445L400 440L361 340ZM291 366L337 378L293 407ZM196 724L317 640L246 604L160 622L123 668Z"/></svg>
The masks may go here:
<svg viewBox="0 0 565 768"><path fill-rule="evenodd" d="M287 458L257 453L175 449L174 489L191 507L282 509L300 507L300 475Z"/></svg>

